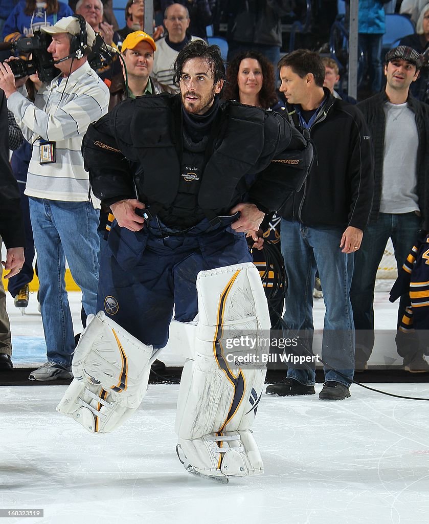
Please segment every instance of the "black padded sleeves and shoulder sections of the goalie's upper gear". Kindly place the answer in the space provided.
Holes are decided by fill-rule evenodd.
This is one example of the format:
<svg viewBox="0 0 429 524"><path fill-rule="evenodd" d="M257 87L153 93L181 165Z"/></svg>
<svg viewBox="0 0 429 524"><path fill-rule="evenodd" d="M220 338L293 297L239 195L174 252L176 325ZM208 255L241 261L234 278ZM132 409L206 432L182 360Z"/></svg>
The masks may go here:
<svg viewBox="0 0 429 524"><path fill-rule="evenodd" d="M232 101L218 111L205 153L200 209L228 213L244 198L262 211L278 209L293 178L285 151L303 149L305 139L276 113ZM105 203L136 198L137 189L145 204L171 205L183 151L180 95L125 100L90 125L82 151L94 194ZM129 161L141 166L135 175Z"/></svg>

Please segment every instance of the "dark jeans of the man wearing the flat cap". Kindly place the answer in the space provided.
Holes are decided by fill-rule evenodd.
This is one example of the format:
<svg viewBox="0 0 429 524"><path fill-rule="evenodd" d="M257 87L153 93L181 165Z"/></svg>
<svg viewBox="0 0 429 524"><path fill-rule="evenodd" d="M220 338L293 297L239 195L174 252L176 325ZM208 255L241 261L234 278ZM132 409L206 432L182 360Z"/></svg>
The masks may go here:
<svg viewBox="0 0 429 524"><path fill-rule="evenodd" d="M392 239L398 271L410 254L420 230L420 217L415 213L380 213L377 222L370 223L364 232L360 249L355 254L355 272L351 285L350 299L356 329L356 361L366 362L374 345L374 287L377 269L383 257L389 237ZM410 305L408 292L401 296L398 311L398 322L402 319L405 308ZM398 353L404 357L411 348L408 344L402 347L401 332L398 332ZM402 334L403 335L403 334ZM405 334L406 341L412 336ZM411 347L415 345L412 344ZM423 353L423 352L422 352Z"/></svg>

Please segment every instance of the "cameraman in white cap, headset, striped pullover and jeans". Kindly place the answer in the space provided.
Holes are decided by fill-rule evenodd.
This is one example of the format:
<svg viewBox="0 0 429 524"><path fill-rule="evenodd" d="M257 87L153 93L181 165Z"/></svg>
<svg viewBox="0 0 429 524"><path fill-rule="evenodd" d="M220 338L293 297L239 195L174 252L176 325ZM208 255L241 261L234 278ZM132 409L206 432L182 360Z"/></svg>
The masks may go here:
<svg viewBox="0 0 429 524"><path fill-rule="evenodd" d="M32 380L69 378L74 350L73 325L65 291L65 258L82 290L86 315L96 313L98 211L89 199L82 137L107 112L109 93L86 60L95 41L82 17L68 16L42 31L52 35L48 52L60 74L42 85L35 102L17 90L9 64L0 64L0 88L32 145L25 194L38 255L43 330L48 362ZM18 81L22 85L25 79Z"/></svg>

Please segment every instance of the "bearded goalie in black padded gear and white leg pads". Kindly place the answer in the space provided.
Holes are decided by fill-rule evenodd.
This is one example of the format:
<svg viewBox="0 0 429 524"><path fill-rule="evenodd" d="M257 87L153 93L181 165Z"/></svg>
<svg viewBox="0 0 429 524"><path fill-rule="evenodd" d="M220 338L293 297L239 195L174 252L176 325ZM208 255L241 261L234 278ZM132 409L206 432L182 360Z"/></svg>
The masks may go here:
<svg viewBox="0 0 429 524"><path fill-rule="evenodd" d="M269 334L246 234L257 241L265 213L294 189L289 166L311 160L312 149L281 115L219 102L225 68L217 46L189 43L174 74L180 94L128 99L83 141L92 189L116 221L101 257L101 311L73 360L76 380L86 377L96 396L75 383L58 409L89 431L117 427L146 392L138 377L166 345L174 307L173 322L193 347L179 393L179 459L225 482L263 472L250 427L265 369L229 364L221 342L227 329ZM185 324L197 313L196 326Z"/></svg>

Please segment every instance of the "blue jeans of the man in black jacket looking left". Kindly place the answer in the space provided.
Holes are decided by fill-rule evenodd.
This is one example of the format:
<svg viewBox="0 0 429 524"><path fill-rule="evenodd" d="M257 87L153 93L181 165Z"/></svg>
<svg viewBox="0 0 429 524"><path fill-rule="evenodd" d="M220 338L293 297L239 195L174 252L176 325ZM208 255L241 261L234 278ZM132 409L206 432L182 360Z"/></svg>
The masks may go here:
<svg viewBox="0 0 429 524"><path fill-rule="evenodd" d="M281 221L281 249L288 277L283 320L285 327L289 328L285 336L298 334L305 346L304 349L299 344L294 354L307 356L312 353L313 287L318 268L326 306L322 339L322 358L327 363L324 366L325 381L333 380L349 386L354 374L355 355L349 298L354 255L341 252L339 244L343 233L343 227L310 227L299 222ZM288 377L304 385L314 384L314 363L301 367L289 367Z"/></svg>

